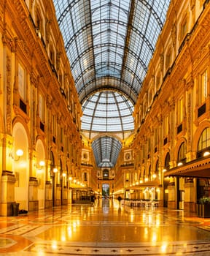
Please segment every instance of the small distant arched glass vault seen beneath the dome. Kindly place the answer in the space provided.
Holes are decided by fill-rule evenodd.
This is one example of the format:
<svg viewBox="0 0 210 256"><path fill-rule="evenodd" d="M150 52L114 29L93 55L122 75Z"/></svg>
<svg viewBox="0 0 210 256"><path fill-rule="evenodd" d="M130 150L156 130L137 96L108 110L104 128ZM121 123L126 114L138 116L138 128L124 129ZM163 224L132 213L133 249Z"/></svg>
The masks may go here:
<svg viewBox="0 0 210 256"><path fill-rule="evenodd" d="M104 136L94 140L92 148L98 167L113 167L116 164L122 144L116 138Z"/></svg>

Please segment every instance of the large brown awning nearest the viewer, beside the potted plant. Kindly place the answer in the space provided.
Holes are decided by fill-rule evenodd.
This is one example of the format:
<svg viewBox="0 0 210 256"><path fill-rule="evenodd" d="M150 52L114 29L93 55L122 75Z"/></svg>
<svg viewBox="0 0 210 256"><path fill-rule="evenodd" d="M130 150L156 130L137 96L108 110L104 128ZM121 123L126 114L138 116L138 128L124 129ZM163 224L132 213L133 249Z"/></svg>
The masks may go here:
<svg viewBox="0 0 210 256"><path fill-rule="evenodd" d="M210 157L195 159L179 167L174 167L164 173L164 177L210 178Z"/></svg>

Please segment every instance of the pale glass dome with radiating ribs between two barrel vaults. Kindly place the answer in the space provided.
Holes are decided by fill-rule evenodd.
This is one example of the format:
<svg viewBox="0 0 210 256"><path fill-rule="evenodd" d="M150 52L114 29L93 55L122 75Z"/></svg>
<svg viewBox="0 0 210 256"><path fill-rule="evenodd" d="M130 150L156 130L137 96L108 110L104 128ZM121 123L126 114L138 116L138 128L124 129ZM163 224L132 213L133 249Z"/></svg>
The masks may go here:
<svg viewBox="0 0 210 256"><path fill-rule="evenodd" d="M133 104L116 91L98 91L82 104L82 129L93 132L132 131Z"/></svg>

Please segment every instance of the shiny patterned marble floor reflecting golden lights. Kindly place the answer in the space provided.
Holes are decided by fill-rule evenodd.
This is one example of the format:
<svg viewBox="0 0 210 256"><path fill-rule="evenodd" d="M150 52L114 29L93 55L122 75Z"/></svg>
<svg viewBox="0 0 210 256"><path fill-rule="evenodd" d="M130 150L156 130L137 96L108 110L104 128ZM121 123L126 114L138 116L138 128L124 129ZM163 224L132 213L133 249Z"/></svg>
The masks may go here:
<svg viewBox="0 0 210 256"><path fill-rule="evenodd" d="M210 255L210 219L117 201L0 217L0 255Z"/></svg>

